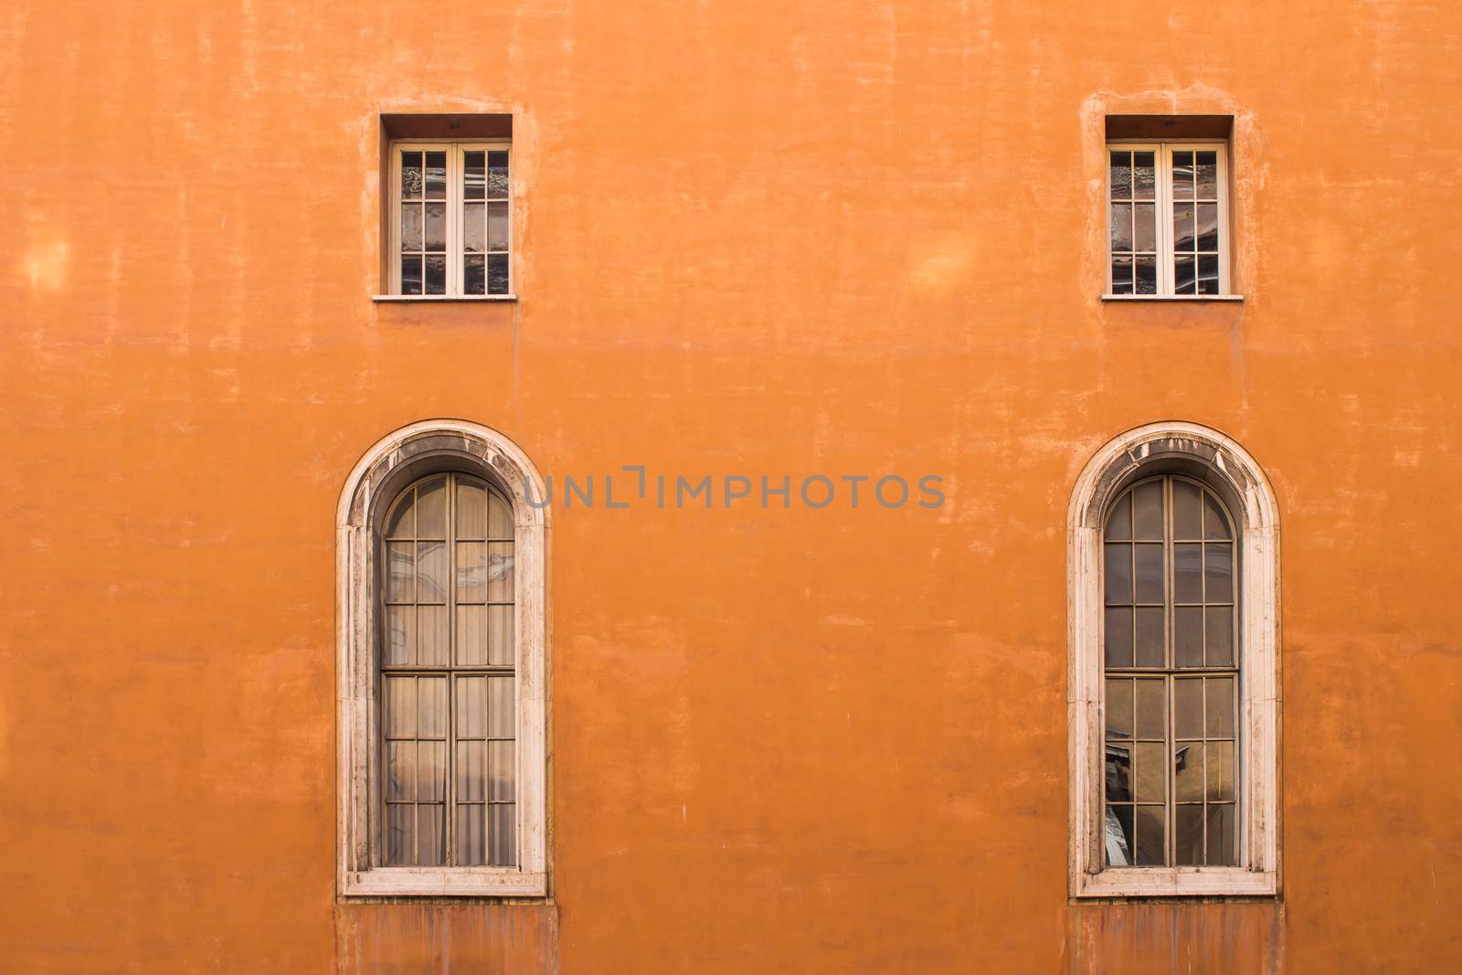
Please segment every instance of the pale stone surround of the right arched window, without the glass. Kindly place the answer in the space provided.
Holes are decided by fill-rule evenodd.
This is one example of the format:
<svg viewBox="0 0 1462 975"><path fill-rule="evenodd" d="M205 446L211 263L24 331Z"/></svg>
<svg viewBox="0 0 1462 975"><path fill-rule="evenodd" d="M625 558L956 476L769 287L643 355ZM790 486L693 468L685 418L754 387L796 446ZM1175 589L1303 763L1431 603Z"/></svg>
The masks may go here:
<svg viewBox="0 0 1462 975"><path fill-rule="evenodd" d="M1104 867L1102 529L1139 477L1184 472L1238 519L1240 797L1237 867ZM1069 868L1073 898L1273 896L1279 892L1279 509L1259 463L1231 437L1155 422L1086 463L1067 512Z"/></svg>

